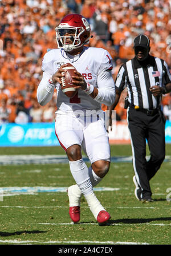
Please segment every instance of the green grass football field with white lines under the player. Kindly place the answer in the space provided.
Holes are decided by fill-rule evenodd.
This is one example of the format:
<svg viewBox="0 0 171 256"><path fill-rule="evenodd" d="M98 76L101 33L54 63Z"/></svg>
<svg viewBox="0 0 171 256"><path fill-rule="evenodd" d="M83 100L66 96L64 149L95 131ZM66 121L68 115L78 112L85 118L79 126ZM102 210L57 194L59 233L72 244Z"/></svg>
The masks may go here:
<svg viewBox="0 0 171 256"><path fill-rule="evenodd" d="M11 157L64 155L60 147L0 148L0 153ZM111 153L132 156L130 145L112 145ZM171 156L171 145L166 145L166 155ZM132 162L112 162L109 173L97 188L113 190L95 190L112 217L108 225L100 226L84 198L80 224L70 223L66 189L64 192L29 190L28 193L28 188L67 188L74 184L68 163L0 165L1 188L27 187L22 193L7 190L1 196L0 244L170 245L171 203L166 200L167 196L171 199L170 167L171 161L166 159L150 181L154 202L143 204L134 195Z"/></svg>

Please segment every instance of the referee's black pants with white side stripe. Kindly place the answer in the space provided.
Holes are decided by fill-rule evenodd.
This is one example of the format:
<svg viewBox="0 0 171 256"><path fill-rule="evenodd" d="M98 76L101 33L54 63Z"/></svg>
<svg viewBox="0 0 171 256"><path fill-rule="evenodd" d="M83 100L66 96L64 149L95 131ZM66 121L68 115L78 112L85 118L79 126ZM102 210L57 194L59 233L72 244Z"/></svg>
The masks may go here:
<svg viewBox="0 0 171 256"><path fill-rule="evenodd" d="M162 112L153 116L128 107L128 128L131 135L133 169L141 187L141 198L152 196L149 181L165 159L165 120ZM146 140L150 159L146 161Z"/></svg>

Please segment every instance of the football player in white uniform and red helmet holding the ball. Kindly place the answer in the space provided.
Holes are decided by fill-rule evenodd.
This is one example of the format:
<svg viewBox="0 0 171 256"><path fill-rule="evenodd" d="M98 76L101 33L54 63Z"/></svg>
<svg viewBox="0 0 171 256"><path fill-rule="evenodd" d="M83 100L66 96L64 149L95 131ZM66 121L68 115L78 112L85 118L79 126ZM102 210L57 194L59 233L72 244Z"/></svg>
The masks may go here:
<svg viewBox="0 0 171 256"><path fill-rule="evenodd" d="M110 166L108 133L101 104L112 105L115 101L112 58L103 48L84 46L89 43L91 29L82 15L66 15L55 31L58 48L44 55L38 102L45 105L52 99L54 89L58 91L55 133L66 151L76 182L68 188L71 220L74 223L80 220L83 194L97 222L104 224L111 216L95 196L93 186L107 174ZM66 63L77 70L72 82L78 92L72 99L61 89ZM89 168L83 161L82 149L91 162Z"/></svg>

